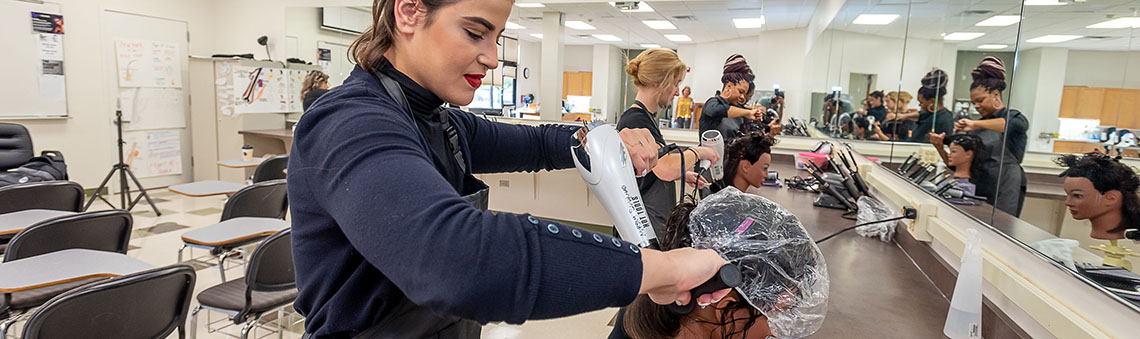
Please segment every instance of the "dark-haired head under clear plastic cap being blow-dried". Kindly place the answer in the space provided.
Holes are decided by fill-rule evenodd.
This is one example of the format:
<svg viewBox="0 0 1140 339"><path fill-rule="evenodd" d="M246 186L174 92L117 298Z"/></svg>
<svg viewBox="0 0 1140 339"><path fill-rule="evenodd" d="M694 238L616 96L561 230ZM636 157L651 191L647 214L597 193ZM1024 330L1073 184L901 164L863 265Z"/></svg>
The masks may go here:
<svg viewBox="0 0 1140 339"><path fill-rule="evenodd" d="M712 249L741 269L742 284L719 302L677 315L640 296L622 325L643 338L806 337L826 313L826 265L791 212L728 187L673 209L661 250Z"/></svg>

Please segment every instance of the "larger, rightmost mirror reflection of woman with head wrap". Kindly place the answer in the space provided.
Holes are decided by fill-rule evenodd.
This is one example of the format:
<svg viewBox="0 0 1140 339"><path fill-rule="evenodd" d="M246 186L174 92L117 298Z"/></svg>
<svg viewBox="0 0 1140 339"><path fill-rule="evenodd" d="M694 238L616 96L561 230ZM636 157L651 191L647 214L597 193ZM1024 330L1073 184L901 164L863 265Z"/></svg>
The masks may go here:
<svg viewBox="0 0 1140 339"><path fill-rule="evenodd" d="M1025 204L1027 186L1021 160L1025 158L1029 120L1002 103L1005 64L1001 59L993 56L983 58L970 75L974 76L970 100L982 119L958 120L954 131L976 135L986 145L986 160L983 162L983 176L977 180L976 195L985 196L999 210L1018 217Z"/></svg>

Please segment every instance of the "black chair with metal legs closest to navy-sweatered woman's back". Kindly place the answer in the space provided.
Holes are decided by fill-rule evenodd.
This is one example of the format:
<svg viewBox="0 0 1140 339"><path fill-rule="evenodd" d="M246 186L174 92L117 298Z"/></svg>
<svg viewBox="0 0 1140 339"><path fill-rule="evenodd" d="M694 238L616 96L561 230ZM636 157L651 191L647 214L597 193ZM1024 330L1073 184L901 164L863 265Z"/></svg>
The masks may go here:
<svg viewBox="0 0 1140 339"><path fill-rule="evenodd" d="M227 281L198 293L198 307L190 313L190 338L197 336L197 316L203 308L229 315L242 324L242 339L258 324L261 315L279 309L296 299L293 275L291 231L270 235L250 256L245 277ZM278 321L282 321L278 316ZM284 330L283 326L277 329Z"/></svg>

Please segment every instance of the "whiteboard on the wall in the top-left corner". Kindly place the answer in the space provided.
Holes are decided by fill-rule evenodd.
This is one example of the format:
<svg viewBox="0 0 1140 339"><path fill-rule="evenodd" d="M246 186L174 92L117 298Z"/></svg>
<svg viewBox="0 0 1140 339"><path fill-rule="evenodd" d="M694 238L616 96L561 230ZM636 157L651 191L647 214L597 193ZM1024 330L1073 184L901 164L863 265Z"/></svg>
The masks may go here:
<svg viewBox="0 0 1140 339"><path fill-rule="evenodd" d="M0 119L67 116L63 62L67 35L33 32L32 11L63 14L55 2L0 0L0 46L5 47L6 64L5 81L0 81Z"/></svg>

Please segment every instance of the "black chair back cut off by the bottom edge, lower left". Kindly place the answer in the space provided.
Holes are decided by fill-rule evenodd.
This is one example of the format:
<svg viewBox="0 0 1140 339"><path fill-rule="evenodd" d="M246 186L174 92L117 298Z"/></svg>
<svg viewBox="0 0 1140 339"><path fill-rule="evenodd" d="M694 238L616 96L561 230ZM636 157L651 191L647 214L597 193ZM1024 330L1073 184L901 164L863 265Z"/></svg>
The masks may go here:
<svg viewBox="0 0 1140 339"><path fill-rule="evenodd" d="M186 338L194 281L194 268L173 265L67 291L32 314L24 338Z"/></svg>

